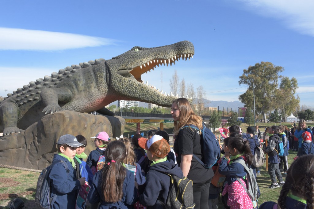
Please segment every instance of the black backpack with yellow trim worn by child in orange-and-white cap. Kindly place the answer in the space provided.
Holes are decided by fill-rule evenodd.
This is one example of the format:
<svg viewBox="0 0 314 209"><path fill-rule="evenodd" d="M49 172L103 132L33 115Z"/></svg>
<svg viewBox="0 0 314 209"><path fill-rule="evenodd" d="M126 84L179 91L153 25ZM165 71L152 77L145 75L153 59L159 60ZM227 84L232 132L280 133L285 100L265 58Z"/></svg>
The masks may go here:
<svg viewBox="0 0 314 209"><path fill-rule="evenodd" d="M170 187L165 204L166 209L193 209L195 203L193 202L193 188L192 180L183 176L170 176Z"/></svg>

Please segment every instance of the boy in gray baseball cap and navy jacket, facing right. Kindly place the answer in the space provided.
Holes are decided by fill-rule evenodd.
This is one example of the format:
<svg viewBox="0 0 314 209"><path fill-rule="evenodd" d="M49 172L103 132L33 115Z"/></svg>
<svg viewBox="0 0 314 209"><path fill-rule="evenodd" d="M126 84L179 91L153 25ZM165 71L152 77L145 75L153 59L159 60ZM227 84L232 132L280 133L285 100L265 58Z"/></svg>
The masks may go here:
<svg viewBox="0 0 314 209"><path fill-rule="evenodd" d="M78 191L85 183L85 177L77 179L74 169L73 158L76 148L80 146L83 144L70 134L61 136L57 142L58 154L54 155L53 161L64 161L68 168L62 162L58 162L53 165L49 173L51 196L57 195L51 205L52 209L75 208Z"/></svg>

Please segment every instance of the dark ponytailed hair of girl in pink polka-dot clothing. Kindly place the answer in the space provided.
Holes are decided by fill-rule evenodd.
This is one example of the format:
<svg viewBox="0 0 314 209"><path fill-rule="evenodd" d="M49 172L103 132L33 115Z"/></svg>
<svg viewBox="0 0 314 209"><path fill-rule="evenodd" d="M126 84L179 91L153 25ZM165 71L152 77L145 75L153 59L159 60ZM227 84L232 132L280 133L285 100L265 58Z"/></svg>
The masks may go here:
<svg viewBox="0 0 314 209"><path fill-rule="evenodd" d="M229 149L235 148L236 150L238 150L238 152L243 153L243 155L246 157L246 162L248 166L252 165L253 155L247 139L233 138L229 140L228 145Z"/></svg>

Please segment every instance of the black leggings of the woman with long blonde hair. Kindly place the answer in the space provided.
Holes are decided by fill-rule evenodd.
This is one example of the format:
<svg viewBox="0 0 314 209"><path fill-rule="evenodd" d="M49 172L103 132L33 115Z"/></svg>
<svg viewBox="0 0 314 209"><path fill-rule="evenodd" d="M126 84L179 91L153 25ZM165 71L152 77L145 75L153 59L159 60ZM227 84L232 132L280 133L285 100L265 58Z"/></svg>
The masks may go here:
<svg viewBox="0 0 314 209"><path fill-rule="evenodd" d="M208 195L209 195L209 179L206 182L194 184L193 183L193 197L196 204L194 209L208 209Z"/></svg>

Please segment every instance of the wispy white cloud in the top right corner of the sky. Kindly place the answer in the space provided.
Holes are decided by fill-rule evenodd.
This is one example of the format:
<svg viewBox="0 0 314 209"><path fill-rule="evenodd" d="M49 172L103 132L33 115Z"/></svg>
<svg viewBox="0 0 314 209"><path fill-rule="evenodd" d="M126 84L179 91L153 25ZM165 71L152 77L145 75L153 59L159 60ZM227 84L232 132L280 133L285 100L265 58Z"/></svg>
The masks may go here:
<svg viewBox="0 0 314 209"><path fill-rule="evenodd" d="M240 0L250 10L263 16L279 18L297 33L314 36L314 1L312 0Z"/></svg>

